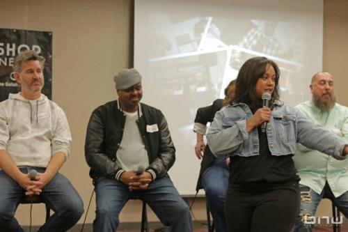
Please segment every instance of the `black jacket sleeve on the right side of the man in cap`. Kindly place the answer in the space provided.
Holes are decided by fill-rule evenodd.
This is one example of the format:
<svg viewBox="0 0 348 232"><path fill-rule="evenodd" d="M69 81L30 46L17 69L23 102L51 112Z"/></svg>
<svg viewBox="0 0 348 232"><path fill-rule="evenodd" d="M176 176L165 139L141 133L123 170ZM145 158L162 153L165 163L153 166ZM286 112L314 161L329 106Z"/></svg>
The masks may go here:
<svg viewBox="0 0 348 232"><path fill-rule="evenodd" d="M164 118L163 114L161 114L159 130L161 132L159 154L148 168L155 172L156 176L154 176L154 179L166 176L167 171L175 162L175 147L171 139L171 133L169 132L166 118Z"/></svg>

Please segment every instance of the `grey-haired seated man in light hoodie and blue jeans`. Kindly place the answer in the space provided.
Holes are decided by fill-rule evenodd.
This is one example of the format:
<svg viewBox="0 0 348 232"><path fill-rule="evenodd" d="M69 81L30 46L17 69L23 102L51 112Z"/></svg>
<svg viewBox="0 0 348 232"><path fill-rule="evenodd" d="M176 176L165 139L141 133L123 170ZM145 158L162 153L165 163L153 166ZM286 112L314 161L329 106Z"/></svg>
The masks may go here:
<svg viewBox="0 0 348 232"><path fill-rule="evenodd" d="M81 197L58 170L70 155L67 118L41 93L45 58L21 52L13 76L21 92L0 102L0 229L23 231L15 210L24 196L40 195L54 210L42 231L67 231L84 212ZM37 171L33 178L29 172Z"/></svg>

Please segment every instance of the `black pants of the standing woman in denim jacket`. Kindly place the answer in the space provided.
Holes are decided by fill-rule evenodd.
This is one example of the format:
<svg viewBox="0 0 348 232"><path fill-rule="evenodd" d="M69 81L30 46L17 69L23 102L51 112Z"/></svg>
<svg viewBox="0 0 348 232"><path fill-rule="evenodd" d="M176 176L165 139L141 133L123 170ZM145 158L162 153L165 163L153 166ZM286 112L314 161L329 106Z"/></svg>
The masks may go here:
<svg viewBox="0 0 348 232"><path fill-rule="evenodd" d="M299 215L298 183L271 190L228 187L225 213L229 232L290 232Z"/></svg>

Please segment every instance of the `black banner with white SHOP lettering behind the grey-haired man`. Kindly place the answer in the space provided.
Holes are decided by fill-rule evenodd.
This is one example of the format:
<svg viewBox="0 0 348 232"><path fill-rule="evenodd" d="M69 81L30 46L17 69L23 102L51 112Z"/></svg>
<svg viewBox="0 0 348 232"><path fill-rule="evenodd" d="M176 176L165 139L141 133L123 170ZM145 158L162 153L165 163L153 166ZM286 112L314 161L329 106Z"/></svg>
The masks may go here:
<svg viewBox="0 0 348 232"><path fill-rule="evenodd" d="M52 32L0 29L0 102L6 100L9 93L21 91L13 77L12 65L19 52L29 49L46 59L42 93L52 99Z"/></svg>

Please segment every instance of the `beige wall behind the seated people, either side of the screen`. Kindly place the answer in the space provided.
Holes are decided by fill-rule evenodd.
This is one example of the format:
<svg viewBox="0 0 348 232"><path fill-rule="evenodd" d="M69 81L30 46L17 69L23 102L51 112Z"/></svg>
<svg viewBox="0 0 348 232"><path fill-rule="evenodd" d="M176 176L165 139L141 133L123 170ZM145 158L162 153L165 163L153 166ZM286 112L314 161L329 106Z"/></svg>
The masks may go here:
<svg viewBox="0 0 348 232"><path fill-rule="evenodd" d="M91 111L113 100L112 77L132 65L132 0L1 0L0 28L53 32L53 100L68 116L72 157L61 172L70 178L88 205L93 190L84 160L86 125ZM348 1L324 1L324 70L335 77L338 102L348 105ZM315 39L315 38L313 38ZM193 154L192 154L193 155ZM319 213L330 212L323 204ZM34 206L33 224L44 220L43 206ZM93 199L87 223L95 217ZM127 203L122 222L140 220L141 205ZM193 212L205 219L205 204L196 200ZM17 218L29 224L29 207L19 206ZM157 220L150 215L150 220ZM80 220L82 222L82 220Z"/></svg>

